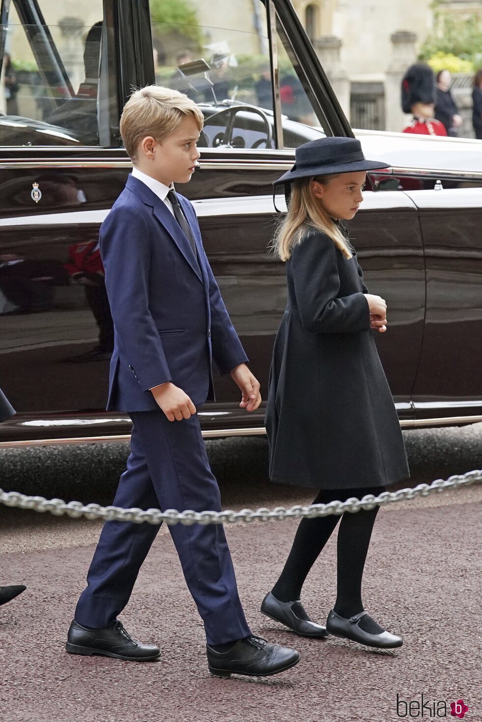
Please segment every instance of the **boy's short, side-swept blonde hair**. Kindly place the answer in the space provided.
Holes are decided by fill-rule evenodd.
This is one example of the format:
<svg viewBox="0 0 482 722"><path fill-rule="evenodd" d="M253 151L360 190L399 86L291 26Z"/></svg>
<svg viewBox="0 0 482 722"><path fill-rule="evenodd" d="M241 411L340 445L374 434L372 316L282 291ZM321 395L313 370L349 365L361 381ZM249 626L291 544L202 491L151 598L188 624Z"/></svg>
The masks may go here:
<svg viewBox="0 0 482 722"><path fill-rule="evenodd" d="M159 85L146 85L133 92L121 116L121 136L131 160L146 136L162 142L186 116L192 116L201 131L204 117L196 103L184 93Z"/></svg>

